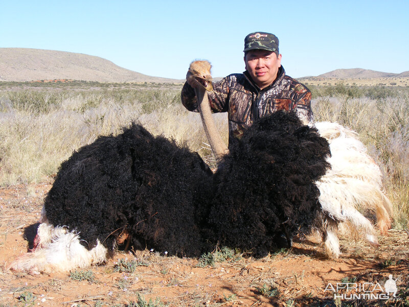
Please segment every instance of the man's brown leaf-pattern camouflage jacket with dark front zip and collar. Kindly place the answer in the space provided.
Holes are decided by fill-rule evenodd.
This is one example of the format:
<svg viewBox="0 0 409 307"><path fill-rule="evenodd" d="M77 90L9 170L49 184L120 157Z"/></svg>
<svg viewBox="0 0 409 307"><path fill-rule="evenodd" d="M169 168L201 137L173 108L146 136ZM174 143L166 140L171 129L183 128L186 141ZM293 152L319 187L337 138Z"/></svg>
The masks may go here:
<svg viewBox="0 0 409 307"><path fill-rule="evenodd" d="M294 110L304 122L312 121L311 92L285 75L283 67L276 80L263 90L244 72L214 82L208 97L214 113L229 113L229 143L232 138L240 138L255 120L280 109ZM198 112L195 92L188 83L183 86L181 102L189 111Z"/></svg>

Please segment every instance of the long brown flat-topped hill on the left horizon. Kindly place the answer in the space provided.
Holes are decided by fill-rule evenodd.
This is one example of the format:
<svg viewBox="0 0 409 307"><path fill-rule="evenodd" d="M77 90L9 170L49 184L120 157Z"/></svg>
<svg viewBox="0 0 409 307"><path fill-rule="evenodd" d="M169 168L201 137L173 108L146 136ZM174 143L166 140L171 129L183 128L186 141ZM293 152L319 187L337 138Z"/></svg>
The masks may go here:
<svg viewBox="0 0 409 307"><path fill-rule="evenodd" d="M183 80L147 76L119 67L106 59L81 53L0 48L0 81L53 79L97 82L183 82Z"/></svg>

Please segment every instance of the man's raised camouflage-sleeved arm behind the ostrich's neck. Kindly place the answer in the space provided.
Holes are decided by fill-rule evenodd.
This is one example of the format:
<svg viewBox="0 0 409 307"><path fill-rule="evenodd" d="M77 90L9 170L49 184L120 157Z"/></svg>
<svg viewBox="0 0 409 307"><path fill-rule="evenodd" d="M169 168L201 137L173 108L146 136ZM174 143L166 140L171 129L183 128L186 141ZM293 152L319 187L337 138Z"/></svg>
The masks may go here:
<svg viewBox="0 0 409 307"><path fill-rule="evenodd" d="M208 92L208 98L210 103L210 108L213 113L227 112L229 105L227 97L229 94L228 77L223 78L218 82L213 82L213 91ZM180 100L182 104L189 110L193 112L197 111L197 100L196 94L192 86L185 82L180 94Z"/></svg>

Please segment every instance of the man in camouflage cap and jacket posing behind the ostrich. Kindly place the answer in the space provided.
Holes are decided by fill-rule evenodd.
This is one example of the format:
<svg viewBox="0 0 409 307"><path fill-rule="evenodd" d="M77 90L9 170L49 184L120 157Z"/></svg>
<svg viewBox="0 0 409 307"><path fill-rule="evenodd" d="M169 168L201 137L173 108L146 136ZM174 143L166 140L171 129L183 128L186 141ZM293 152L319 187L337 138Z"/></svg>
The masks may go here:
<svg viewBox="0 0 409 307"><path fill-rule="evenodd" d="M304 123L312 121L311 92L285 75L281 66L279 40L274 34L255 32L244 39L243 74L232 74L213 83L208 93L213 112L229 113L229 143L260 117L280 109L294 110ZM193 88L185 83L181 101L197 112Z"/></svg>

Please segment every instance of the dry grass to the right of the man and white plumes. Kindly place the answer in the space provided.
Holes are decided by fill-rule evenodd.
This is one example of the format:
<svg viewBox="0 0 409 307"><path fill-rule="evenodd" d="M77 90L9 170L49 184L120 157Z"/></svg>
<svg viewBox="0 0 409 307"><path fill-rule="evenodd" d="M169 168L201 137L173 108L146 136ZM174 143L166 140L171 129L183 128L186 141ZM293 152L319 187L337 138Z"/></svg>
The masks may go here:
<svg viewBox="0 0 409 307"><path fill-rule="evenodd" d="M350 92L313 100L316 121L339 122L359 133L384 174L398 229L409 228L409 91L395 97L355 98Z"/></svg>

